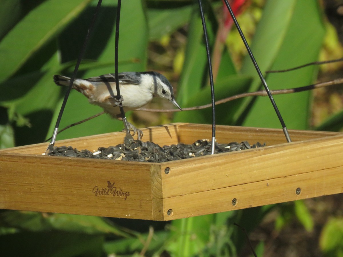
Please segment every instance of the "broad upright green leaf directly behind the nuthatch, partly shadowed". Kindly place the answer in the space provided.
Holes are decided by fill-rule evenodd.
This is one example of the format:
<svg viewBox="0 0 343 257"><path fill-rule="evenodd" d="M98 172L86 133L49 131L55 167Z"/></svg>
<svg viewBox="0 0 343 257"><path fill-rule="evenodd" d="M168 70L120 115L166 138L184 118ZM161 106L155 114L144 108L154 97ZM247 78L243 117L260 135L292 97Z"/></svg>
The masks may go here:
<svg viewBox="0 0 343 257"><path fill-rule="evenodd" d="M94 33L90 38L89 50L85 53L85 58L92 59L97 58L98 63L111 63L114 60L115 50L115 19L116 19L116 7L113 1L104 1L103 11L99 13L98 22L94 26ZM134 6L135 8L132 8ZM88 12L86 12L88 13ZM84 31L88 24L84 24L84 18L75 20L70 24L66 32L61 34L60 41L66 41L66 38L73 38L75 31ZM134 31L135 33L127 33L128 31ZM84 35L80 35L79 40L83 40ZM103 40L98 40L102 38ZM145 16L145 10L143 3L140 0L123 1L121 4L120 14L120 29L119 29L119 72L121 71L144 71L146 68L147 60L147 42L148 42L148 26ZM67 43L66 43L67 44ZM74 40L68 40L67 45L60 46L61 56L64 61L70 61L69 53L73 52L72 46ZM70 47L67 47L70 46ZM92 53L92 49L95 49L96 53ZM74 49L76 51L76 49ZM66 56L67 57L63 57ZM74 56L76 58L76 56ZM138 59L139 62L127 62L128 60ZM114 73L113 66L92 67L92 69L82 74L82 77L98 76L106 73ZM68 75L68 74L63 74ZM80 75L79 75L80 76ZM52 80L52 77L51 77ZM55 127L56 119L60 110L61 103L57 105L50 124L50 129L47 134L47 138L52 135L52 131ZM72 90L64 110L60 128L70 125L75 122L79 122L94 114L103 111L98 106L93 106L88 103L88 100L79 92ZM127 115L128 116L128 115ZM58 135L58 139L75 138L87 135L108 133L113 131L121 131L123 123L121 121L111 118L109 115L101 115L96 119L87 121L75 127L72 127L65 132Z"/></svg>

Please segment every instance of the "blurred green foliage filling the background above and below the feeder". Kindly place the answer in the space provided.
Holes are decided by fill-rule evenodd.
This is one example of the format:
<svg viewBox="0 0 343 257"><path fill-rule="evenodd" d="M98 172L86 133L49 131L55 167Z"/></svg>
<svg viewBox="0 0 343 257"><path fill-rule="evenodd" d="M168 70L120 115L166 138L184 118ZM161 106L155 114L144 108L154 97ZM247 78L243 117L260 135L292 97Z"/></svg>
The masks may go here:
<svg viewBox="0 0 343 257"><path fill-rule="evenodd" d="M209 41L213 46L218 29L216 8L222 2L203 2ZM97 1L91 0L0 0L1 148L39 143L51 135L65 92L64 88L54 85L52 76L72 73L96 4ZM190 0L123 1L119 72L146 70L149 41L159 40L188 24L177 101L181 107L209 103L207 59L198 8ZM104 0L78 77L114 72L115 14L116 1ZM317 1L266 1L251 42L262 72L316 61L324 35L321 15ZM287 74L270 74L266 80L271 89L304 86L313 81L316 72L317 69L310 66ZM260 88L250 59L246 57L238 70L225 45L215 83L216 99ZM288 129L307 128L309 96L310 93L303 92L275 97ZM60 127L100 111L99 107L89 105L81 94L72 91ZM208 109L178 112L173 121L211 123L211 119ZM280 127L269 99L262 97L217 106L216 120L217 124L224 125ZM121 129L121 122L102 115L61 133L58 139ZM233 227L233 222L249 232L274 207L175 220L163 223L166 229L155 222L140 222L132 229L132 224L137 223L131 220L115 219L113 223L99 217L3 210L0 213L0 253L3 256L21 253L158 256L167 250L173 256L237 256L245 239L243 232ZM307 230L312 229L311 217L300 201L283 209L277 226L282 227L287 221L283 217L288 213L295 213ZM322 235L321 246L325 251L332 251L333 247L327 243L327 238L341 233L332 232L330 224ZM150 225L156 228L153 233L152 230L147 232L146 227ZM257 246L260 255L263 249L261 241Z"/></svg>

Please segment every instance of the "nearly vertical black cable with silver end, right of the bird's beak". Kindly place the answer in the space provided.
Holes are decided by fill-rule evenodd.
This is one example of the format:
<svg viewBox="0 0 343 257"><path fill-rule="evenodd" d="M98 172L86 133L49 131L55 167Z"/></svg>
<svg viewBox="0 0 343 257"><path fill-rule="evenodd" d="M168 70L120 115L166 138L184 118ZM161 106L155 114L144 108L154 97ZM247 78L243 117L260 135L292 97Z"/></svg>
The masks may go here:
<svg viewBox="0 0 343 257"><path fill-rule="evenodd" d="M202 9L201 0L199 0L199 9L200 9L200 15L201 15L201 21L202 21L202 28L204 30L204 36L205 36L205 45L206 45L206 53L207 53L207 59L209 63L209 74L210 74L210 86L211 86L211 99L212 99L212 148L211 148L211 154L214 154L215 149L215 102L214 102L214 86L213 86L213 74L212 74L212 63L211 63L211 55L210 55L210 47L209 47L209 38L207 35L207 29L206 29L206 22L204 17L204 11Z"/></svg>

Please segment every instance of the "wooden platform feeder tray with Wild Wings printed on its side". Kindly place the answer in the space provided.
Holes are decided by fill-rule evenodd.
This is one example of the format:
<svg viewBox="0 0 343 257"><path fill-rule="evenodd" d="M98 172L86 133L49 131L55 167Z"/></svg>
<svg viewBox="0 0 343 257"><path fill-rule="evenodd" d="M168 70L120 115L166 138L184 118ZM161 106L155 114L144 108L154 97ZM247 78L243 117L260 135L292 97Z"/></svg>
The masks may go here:
<svg viewBox="0 0 343 257"><path fill-rule="evenodd" d="M211 136L211 126L142 130L161 146ZM0 208L173 220L343 192L343 134L217 126L218 143L266 147L163 163L43 156L47 143L0 150ZM123 132L60 140L81 149L122 143Z"/></svg>

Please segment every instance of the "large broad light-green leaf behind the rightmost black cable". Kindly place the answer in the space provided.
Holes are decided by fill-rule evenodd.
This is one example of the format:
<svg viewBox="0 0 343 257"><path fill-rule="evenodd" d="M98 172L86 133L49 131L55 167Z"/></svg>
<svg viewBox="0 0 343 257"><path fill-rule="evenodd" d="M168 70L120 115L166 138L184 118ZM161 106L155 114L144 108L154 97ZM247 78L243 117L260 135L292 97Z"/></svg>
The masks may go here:
<svg viewBox="0 0 343 257"><path fill-rule="evenodd" d="M262 72L290 68L317 60L323 35L324 26L317 2L267 1L253 39L252 52ZM306 51L303 50L305 45ZM270 89L304 86L312 82L314 71L314 67L308 67L294 72L269 74L267 84ZM255 72L248 57L242 72L250 75ZM250 90L256 90L261 85L257 74L255 77ZM309 93L278 95L274 99L288 128L307 127ZM246 100L238 110L235 115L237 121L245 119L244 126L280 127L268 98L258 97L245 117L244 111L249 103L251 100Z"/></svg>

